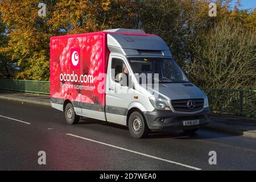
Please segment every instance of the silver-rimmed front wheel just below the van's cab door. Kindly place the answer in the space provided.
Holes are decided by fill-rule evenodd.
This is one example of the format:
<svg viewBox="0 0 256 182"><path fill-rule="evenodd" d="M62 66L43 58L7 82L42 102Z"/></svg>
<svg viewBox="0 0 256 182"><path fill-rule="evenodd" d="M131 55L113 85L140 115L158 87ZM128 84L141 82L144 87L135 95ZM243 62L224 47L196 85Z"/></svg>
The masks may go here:
<svg viewBox="0 0 256 182"><path fill-rule="evenodd" d="M129 131L134 138L146 137L150 129L148 129L147 123L142 114L138 111L131 113L129 117Z"/></svg>

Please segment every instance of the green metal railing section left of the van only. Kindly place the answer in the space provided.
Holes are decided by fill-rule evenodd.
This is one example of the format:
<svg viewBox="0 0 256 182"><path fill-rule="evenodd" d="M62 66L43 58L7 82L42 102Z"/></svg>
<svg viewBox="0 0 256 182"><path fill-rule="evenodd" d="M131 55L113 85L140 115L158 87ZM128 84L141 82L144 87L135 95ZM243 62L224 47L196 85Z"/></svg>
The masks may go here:
<svg viewBox="0 0 256 182"><path fill-rule="evenodd" d="M49 94L49 81L0 79L0 89Z"/></svg>

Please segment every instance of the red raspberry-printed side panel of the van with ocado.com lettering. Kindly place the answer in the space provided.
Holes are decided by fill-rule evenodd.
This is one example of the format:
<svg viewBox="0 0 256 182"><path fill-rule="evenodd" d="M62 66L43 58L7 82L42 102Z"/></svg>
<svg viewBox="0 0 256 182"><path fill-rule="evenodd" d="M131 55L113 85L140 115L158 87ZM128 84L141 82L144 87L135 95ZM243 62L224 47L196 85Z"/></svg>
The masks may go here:
<svg viewBox="0 0 256 182"><path fill-rule="evenodd" d="M101 73L105 71L104 55L102 55L104 43L101 38L101 35L96 35L51 40L53 52L51 54L51 93L53 96L51 97L89 104L104 104L105 97L102 93L104 90L101 90L101 93L97 90L98 85L104 80ZM78 59L74 57L75 51L79 53ZM75 65L75 58L80 61L79 67ZM93 82L81 81L81 75L93 76ZM60 87L61 84L83 85L93 89L72 89ZM104 85L101 89L104 89Z"/></svg>

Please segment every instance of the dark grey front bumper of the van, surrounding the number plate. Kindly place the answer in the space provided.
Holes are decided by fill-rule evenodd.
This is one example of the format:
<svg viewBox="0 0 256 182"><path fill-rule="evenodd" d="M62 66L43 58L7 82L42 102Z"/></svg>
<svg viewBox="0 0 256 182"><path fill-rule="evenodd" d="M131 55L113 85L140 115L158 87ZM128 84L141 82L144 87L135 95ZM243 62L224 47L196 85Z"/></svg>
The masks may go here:
<svg viewBox="0 0 256 182"><path fill-rule="evenodd" d="M164 130L188 130L196 129L209 123L209 108L196 114L176 114L170 110L153 110L145 113L147 125L149 129L156 131ZM199 119L199 125L183 126L184 120Z"/></svg>

